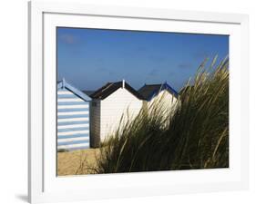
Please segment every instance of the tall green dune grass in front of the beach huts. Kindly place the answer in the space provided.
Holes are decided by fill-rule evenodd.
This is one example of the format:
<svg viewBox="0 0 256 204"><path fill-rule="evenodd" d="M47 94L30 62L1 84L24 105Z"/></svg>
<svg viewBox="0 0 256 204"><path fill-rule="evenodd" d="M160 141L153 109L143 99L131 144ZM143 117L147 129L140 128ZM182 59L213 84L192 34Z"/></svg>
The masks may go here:
<svg viewBox="0 0 256 204"><path fill-rule="evenodd" d="M229 61L206 64L180 92L175 112L159 101L135 120L120 122L101 148L95 172L229 167Z"/></svg>

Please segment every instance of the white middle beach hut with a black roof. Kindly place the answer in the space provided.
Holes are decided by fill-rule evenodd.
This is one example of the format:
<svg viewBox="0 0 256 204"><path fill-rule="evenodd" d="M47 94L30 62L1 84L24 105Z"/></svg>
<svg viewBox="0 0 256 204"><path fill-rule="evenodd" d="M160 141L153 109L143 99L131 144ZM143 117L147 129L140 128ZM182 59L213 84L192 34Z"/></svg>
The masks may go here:
<svg viewBox="0 0 256 204"><path fill-rule="evenodd" d="M136 117L143 104L142 96L124 80L107 83L90 97L91 144L94 147L120 127L121 119L124 123Z"/></svg>

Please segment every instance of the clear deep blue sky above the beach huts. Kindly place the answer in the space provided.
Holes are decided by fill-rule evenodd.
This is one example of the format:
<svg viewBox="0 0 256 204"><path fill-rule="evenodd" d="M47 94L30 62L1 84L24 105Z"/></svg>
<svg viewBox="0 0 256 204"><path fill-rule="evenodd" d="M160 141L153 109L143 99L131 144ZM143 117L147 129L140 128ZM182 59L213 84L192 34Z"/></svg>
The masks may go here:
<svg viewBox="0 0 256 204"><path fill-rule="evenodd" d="M125 79L135 89L167 82L177 91L206 58L229 54L229 36L57 28L57 78L80 90Z"/></svg>

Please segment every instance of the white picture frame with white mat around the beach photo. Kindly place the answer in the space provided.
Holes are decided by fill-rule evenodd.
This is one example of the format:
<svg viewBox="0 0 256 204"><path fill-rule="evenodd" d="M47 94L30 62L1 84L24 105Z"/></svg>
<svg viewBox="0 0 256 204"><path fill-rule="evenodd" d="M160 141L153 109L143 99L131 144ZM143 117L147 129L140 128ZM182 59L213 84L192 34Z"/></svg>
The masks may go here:
<svg viewBox="0 0 256 204"><path fill-rule="evenodd" d="M56 26L64 25L230 34L230 168L56 177L56 138L50 137L56 131L54 32ZM248 44L248 15L30 2L29 201L38 203L248 189Z"/></svg>

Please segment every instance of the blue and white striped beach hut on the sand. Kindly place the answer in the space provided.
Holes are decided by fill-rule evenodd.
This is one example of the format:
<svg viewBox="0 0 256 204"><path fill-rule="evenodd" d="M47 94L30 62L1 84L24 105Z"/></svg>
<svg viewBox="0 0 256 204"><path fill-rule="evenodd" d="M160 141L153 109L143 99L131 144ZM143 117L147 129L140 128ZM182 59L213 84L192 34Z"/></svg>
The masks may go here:
<svg viewBox="0 0 256 204"><path fill-rule="evenodd" d="M90 147L89 105L91 98L63 79L57 83L57 150Z"/></svg>

